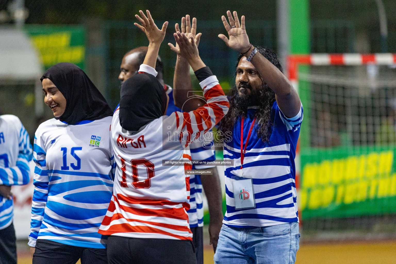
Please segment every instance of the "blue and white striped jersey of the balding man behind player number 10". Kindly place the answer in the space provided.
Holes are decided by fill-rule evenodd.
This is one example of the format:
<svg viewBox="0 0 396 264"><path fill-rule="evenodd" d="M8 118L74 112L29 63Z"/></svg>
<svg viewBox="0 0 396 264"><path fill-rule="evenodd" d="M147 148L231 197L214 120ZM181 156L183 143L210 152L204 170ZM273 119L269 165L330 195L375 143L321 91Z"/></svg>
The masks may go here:
<svg viewBox="0 0 396 264"><path fill-rule="evenodd" d="M192 160L215 160L213 132L210 130L199 139L190 144ZM192 169L209 169L213 165L193 165ZM202 198L201 175L190 175L190 209L188 213L188 224L190 228L204 226L204 207Z"/></svg>

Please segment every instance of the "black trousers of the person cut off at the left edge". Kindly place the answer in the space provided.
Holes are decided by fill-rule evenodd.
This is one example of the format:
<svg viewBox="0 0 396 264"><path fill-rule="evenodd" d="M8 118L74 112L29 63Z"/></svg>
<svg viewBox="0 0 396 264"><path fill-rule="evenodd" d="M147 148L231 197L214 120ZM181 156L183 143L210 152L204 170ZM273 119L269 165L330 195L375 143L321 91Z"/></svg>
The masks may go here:
<svg viewBox="0 0 396 264"><path fill-rule="evenodd" d="M13 223L0 230L0 264L17 264L16 242Z"/></svg>

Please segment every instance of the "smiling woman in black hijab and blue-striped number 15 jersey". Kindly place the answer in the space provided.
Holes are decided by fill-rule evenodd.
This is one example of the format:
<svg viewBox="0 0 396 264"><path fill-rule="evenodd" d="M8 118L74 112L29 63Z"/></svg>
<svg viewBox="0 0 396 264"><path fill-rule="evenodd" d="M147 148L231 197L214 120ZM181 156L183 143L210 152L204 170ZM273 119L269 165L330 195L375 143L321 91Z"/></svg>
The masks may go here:
<svg viewBox="0 0 396 264"><path fill-rule="evenodd" d="M78 66L59 63L41 78L55 118L34 136L33 263L107 263L107 237L97 233L113 187L105 98Z"/></svg>

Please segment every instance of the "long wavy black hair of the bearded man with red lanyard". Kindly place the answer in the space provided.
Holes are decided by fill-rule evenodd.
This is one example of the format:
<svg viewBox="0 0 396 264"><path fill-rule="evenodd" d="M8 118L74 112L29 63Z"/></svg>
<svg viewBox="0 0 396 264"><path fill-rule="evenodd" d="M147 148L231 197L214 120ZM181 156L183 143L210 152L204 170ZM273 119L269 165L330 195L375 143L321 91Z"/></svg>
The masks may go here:
<svg viewBox="0 0 396 264"><path fill-rule="evenodd" d="M270 61L273 65L276 66L282 73L283 68L280 65L280 61L278 57L274 53L274 51L256 46L257 52L263 55L268 61ZM240 54L238 59L236 60L236 66L238 67L240 59L242 59L244 55ZM236 72L235 72L236 74ZM272 127L274 125L274 118L271 118L272 105L275 102L275 93L272 91L270 87L264 82L263 78L261 79L261 87L259 89L259 98L258 105L259 110L256 113L257 124L259 124L259 129L257 131L257 135L263 140L263 142L269 142L269 138L272 133ZM230 92L228 93L228 101L230 102L230 108L228 110L227 115L220 121L219 129L225 133L226 131L233 131L235 120L240 116L247 116L247 108L240 107L238 105L236 97L238 96L238 90L236 89L236 85L234 85Z"/></svg>

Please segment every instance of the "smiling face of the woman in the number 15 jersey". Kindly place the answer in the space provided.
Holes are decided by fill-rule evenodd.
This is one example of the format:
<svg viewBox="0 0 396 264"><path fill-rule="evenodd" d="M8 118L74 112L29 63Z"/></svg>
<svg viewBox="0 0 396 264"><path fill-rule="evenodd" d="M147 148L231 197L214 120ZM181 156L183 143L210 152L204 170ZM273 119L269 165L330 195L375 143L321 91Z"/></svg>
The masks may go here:
<svg viewBox="0 0 396 264"><path fill-rule="evenodd" d="M66 98L48 78L43 79L42 85L45 96L44 103L51 108L55 117L61 116L66 109Z"/></svg>

